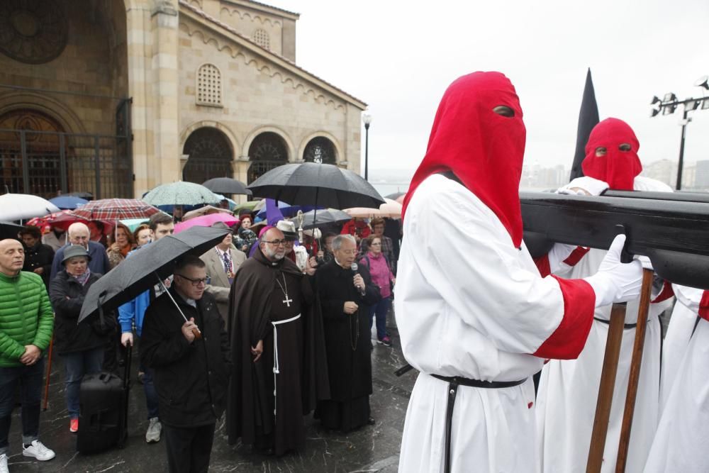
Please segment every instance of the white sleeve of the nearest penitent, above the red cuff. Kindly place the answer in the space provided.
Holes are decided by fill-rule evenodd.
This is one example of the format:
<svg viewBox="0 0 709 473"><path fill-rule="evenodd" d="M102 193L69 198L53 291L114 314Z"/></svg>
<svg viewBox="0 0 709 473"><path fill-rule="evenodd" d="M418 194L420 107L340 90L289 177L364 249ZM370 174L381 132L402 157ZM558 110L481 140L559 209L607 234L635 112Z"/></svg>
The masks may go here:
<svg viewBox="0 0 709 473"><path fill-rule="evenodd" d="M564 315L557 280L540 277L528 252L513 246L474 196L432 194L419 204L415 215L411 208L407 214L406 235L420 243L416 263L428 284L498 349L535 352Z"/></svg>

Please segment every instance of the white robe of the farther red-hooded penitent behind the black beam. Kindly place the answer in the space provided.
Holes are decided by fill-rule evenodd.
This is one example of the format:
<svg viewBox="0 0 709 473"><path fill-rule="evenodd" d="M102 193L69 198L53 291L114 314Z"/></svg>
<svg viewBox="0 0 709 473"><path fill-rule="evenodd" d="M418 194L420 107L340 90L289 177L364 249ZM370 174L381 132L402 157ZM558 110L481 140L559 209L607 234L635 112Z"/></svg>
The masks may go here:
<svg viewBox="0 0 709 473"><path fill-rule="evenodd" d="M566 187L584 187L591 177L574 179ZM635 178L635 189L643 191L671 191L661 182L644 177ZM565 278L583 278L598 271L605 250L589 250L573 267L562 264L555 274ZM633 416L627 473L641 472L647 459L657 421L659 419L660 337L659 314L671 305L671 300L650 304L647 331L642 354L642 369L638 382L635 415ZM625 323L637 323L638 299L627 304ZM596 308L594 318L608 321L611 306ZM542 370L537 392L537 441L542 472L576 473L586 471L591 445L593 418L596 416L598 385L601 382L608 323L593 321L586 346L576 360L551 360ZM618 373L615 377L610 423L603 452L602 472L614 472L618 456L620 426L623 422L625 393L630 374L635 328L623 330Z"/></svg>

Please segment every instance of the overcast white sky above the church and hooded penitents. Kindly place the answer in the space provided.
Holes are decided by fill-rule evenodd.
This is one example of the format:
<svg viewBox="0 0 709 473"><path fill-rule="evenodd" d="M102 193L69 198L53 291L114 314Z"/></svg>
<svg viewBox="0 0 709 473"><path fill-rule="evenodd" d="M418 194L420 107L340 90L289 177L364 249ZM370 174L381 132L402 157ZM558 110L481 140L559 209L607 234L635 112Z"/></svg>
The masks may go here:
<svg viewBox="0 0 709 473"><path fill-rule="evenodd" d="M301 14L298 65L369 104L372 177L413 173L443 91L468 72L510 77L525 163L548 166L571 166L588 67L601 120L630 123L643 163L679 155L681 109L649 118L652 96L706 92L693 84L709 74L708 0L263 1ZM685 160L709 159L709 110L691 116Z"/></svg>

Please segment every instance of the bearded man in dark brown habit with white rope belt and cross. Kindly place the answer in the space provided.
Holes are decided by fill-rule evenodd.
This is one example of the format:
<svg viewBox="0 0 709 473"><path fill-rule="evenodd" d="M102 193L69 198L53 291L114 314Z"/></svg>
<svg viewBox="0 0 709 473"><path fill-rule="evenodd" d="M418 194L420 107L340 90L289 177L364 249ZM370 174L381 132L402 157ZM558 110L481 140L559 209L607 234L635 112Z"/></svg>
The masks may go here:
<svg viewBox="0 0 709 473"><path fill-rule="evenodd" d="M277 228L259 238L235 274L229 306L229 443L242 438L276 455L305 445L303 415L330 396L315 269L303 274L284 258L285 243Z"/></svg>

